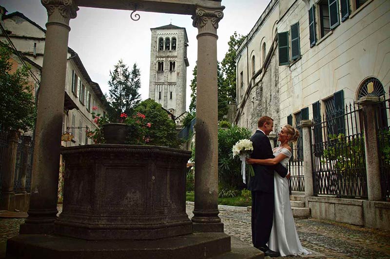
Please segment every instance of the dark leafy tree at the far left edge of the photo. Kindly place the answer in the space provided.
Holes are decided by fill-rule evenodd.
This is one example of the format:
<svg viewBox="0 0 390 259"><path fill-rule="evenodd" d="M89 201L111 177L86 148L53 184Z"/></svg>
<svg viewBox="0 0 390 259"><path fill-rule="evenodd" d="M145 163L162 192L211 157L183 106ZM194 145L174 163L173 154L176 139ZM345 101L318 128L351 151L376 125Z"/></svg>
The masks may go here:
<svg viewBox="0 0 390 259"><path fill-rule="evenodd" d="M37 117L32 87L28 85L30 68L11 73L11 50L0 44L0 126L3 130L33 128Z"/></svg>

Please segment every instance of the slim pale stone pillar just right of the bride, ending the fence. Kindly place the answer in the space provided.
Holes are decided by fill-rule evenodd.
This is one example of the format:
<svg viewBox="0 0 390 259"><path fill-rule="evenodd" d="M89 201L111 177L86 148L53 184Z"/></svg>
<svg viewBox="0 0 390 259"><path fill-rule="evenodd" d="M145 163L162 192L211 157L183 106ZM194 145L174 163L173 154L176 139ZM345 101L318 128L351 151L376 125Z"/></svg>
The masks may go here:
<svg viewBox="0 0 390 259"><path fill-rule="evenodd" d="M303 169L305 177L305 196L313 196L313 165L312 165L312 141L310 138L313 122L311 120L302 120L299 124L302 128L303 145Z"/></svg>

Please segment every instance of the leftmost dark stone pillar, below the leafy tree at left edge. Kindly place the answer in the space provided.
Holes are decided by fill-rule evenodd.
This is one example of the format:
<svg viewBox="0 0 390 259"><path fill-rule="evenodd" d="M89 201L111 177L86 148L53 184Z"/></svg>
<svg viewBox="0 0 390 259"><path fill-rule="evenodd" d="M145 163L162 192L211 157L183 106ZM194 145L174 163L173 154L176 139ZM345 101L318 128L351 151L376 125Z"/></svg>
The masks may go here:
<svg viewBox="0 0 390 259"><path fill-rule="evenodd" d="M7 145L5 154L2 160L3 163L3 177L1 179L1 197L0 209L9 211L15 210L15 166L16 153L18 148L19 131L10 130L7 134Z"/></svg>

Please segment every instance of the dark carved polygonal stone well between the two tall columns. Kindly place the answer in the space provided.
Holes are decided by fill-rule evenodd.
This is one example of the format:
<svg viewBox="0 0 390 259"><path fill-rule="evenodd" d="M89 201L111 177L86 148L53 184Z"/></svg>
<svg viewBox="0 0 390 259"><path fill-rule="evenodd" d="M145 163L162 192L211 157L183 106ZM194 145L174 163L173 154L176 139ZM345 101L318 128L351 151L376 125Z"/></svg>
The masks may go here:
<svg viewBox="0 0 390 259"><path fill-rule="evenodd" d="M186 164L191 152L94 144L61 149L63 208L55 233L86 240L154 240L190 234Z"/></svg>

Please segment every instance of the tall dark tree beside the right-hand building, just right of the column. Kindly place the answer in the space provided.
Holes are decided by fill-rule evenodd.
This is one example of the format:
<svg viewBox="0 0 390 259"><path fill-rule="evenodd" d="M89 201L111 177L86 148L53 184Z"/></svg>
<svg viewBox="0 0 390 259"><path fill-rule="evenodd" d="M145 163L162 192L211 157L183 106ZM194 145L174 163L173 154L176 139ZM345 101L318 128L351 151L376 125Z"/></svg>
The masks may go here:
<svg viewBox="0 0 390 259"><path fill-rule="evenodd" d="M230 36L230 40L228 42L229 49L226 52L225 57L221 62L222 72L224 75L224 88L227 93L227 101L228 102L236 102L236 66L235 66L235 55L236 50L244 41L245 36L239 35L234 32L233 35Z"/></svg>

